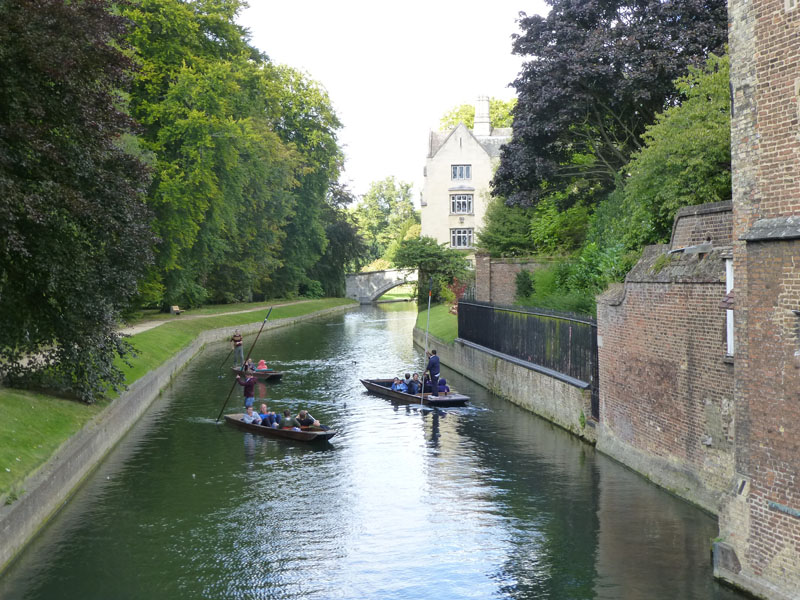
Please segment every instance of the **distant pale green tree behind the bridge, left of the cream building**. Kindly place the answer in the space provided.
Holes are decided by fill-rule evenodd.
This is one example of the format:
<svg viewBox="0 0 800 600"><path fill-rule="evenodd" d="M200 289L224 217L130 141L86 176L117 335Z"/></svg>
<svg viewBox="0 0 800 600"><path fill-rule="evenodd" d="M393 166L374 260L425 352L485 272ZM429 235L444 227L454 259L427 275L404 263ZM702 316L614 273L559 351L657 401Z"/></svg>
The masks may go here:
<svg viewBox="0 0 800 600"><path fill-rule="evenodd" d="M405 237L408 228L419 223L419 214L411 201L411 184L387 177L370 184L355 208L359 231L367 243L369 258L388 258L387 250L395 240Z"/></svg>

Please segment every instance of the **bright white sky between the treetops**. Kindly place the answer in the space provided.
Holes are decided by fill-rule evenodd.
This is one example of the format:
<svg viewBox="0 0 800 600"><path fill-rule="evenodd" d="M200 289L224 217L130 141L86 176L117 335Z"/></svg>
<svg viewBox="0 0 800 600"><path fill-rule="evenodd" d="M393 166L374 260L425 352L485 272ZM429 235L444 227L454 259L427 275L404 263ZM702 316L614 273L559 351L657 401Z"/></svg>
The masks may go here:
<svg viewBox="0 0 800 600"><path fill-rule="evenodd" d="M344 127L342 181L358 195L394 175L418 201L428 132L478 95L508 100L519 12L542 0L250 0L239 22L274 62L308 73Z"/></svg>

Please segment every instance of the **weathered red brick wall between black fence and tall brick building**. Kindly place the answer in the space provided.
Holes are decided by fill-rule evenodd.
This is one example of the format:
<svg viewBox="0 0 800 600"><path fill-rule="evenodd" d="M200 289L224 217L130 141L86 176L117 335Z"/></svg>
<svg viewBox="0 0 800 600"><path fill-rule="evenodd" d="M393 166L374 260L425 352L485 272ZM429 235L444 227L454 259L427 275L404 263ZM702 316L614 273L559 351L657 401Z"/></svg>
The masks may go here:
<svg viewBox="0 0 800 600"><path fill-rule="evenodd" d="M667 249L598 299L598 448L716 512L733 476L724 258Z"/></svg>

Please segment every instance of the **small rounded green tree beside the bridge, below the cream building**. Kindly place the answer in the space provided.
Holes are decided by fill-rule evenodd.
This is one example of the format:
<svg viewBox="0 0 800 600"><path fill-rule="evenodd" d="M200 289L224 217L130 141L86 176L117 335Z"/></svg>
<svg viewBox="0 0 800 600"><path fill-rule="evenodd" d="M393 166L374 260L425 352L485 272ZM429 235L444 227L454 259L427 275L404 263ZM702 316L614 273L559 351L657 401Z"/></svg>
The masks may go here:
<svg viewBox="0 0 800 600"><path fill-rule="evenodd" d="M419 284L417 285L419 304L427 302L428 281L433 279L431 296L438 301L442 289L453 283L455 279L466 279L469 263L457 250L445 248L446 244L438 244L431 237L420 237L404 240L394 255L395 265L401 269L417 269Z"/></svg>

